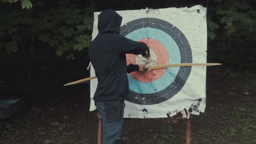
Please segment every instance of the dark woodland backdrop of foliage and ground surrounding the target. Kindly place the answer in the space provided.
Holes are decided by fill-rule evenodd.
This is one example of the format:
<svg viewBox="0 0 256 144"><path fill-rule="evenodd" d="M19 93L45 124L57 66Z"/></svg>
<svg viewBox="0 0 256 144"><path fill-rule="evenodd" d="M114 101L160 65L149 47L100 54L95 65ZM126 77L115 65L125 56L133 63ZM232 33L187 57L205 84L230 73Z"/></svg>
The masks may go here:
<svg viewBox="0 0 256 144"><path fill-rule="evenodd" d="M192 142L256 143L256 0L0 0L0 97L32 96L30 105L0 121L3 144L95 144L89 112L93 13L207 7L207 108L195 117ZM184 143L184 124L125 120L127 144Z"/></svg>

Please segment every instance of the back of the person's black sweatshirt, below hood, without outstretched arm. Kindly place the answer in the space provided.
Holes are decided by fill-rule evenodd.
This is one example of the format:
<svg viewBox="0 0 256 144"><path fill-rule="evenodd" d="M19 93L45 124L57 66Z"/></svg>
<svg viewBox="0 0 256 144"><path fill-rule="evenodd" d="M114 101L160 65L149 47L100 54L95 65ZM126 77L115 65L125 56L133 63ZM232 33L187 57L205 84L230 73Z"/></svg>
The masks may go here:
<svg viewBox="0 0 256 144"><path fill-rule="evenodd" d="M95 101L127 99L126 57L116 50L116 35L99 34L90 45L89 55L98 78Z"/></svg>

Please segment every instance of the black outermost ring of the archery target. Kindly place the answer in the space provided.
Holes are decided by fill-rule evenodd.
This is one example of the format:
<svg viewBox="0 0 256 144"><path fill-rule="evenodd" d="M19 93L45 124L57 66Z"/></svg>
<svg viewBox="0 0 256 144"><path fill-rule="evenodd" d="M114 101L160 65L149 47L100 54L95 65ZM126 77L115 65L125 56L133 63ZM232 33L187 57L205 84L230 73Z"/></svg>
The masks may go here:
<svg viewBox="0 0 256 144"><path fill-rule="evenodd" d="M160 29L161 31L167 33L174 39L179 47L181 53L181 63L192 63L192 52L187 38L177 27L173 26L167 21L150 17L133 20L121 26L120 34L126 36L132 31L144 27ZM190 72L191 66L180 67L174 82L159 92L152 94L140 94L130 90L128 101L139 105L154 105L166 101L180 92L181 88L186 83Z"/></svg>

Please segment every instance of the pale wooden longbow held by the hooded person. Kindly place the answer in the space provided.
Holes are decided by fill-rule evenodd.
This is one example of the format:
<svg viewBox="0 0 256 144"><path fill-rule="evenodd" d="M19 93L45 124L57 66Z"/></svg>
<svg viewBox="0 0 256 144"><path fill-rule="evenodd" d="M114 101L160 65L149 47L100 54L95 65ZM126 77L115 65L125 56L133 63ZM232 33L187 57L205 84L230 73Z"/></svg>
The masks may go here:
<svg viewBox="0 0 256 144"><path fill-rule="evenodd" d="M163 69L163 68L169 68L169 67L177 67L177 66L196 66L196 65L208 65L208 66L210 66L210 65L221 65L221 64L220 63L178 63L178 64L166 64L166 65L156 65L156 66L152 66L152 67L149 67L149 68L145 68L145 71L151 71L153 69ZM97 78L96 76L92 76L92 77L89 77L89 78L80 79L80 80L75 81L75 82L67 83L64 86L74 85L74 84L77 84L77 83L80 83L80 82L85 82L85 81L89 81L89 80L96 79L96 78Z"/></svg>

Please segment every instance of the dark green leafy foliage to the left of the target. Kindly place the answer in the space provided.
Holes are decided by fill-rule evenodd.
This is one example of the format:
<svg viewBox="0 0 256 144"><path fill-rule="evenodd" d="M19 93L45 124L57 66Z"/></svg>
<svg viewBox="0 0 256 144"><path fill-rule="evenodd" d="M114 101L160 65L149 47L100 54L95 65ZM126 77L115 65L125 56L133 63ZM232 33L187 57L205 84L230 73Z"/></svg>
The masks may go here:
<svg viewBox="0 0 256 144"><path fill-rule="evenodd" d="M21 4L23 9L32 7L30 0L22 0ZM57 56L66 55L67 59L74 59L72 53L89 46L93 26L92 7L81 8L78 3L69 0L59 0L59 5L51 8L47 8L51 3L44 3L43 0L33 1L33 5L33 9L29 10L0 5L0 19L6 22L0 23L0 37L4 38L0 48L8 53L16 52L19 42L27 41L33 35L34 39L56 49ZM46 10L37 10L40 7Z"/></svg>

